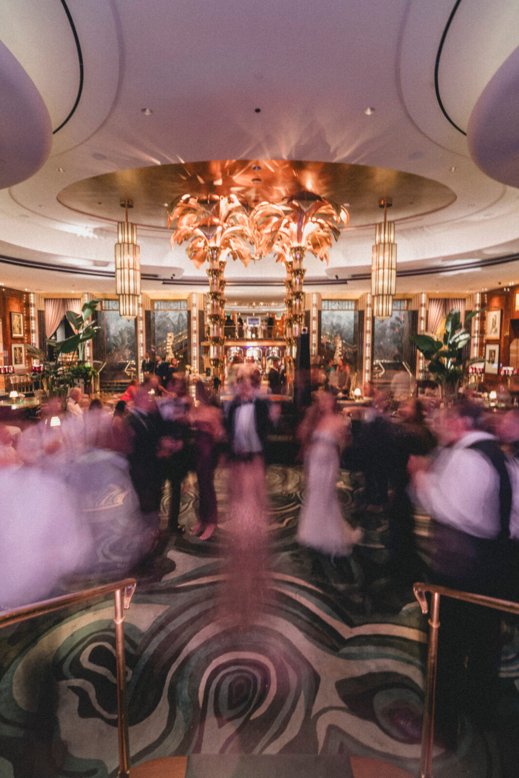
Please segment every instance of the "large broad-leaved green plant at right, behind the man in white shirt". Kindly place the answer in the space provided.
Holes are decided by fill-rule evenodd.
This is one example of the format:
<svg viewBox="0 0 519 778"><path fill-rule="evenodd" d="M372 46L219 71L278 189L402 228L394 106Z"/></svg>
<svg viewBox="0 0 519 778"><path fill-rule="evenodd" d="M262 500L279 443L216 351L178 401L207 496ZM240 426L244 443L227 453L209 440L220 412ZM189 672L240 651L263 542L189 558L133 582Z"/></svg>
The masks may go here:
<svg viewBox="0 0 519 778"><path fill-rule="evenodd" d="M426 359L430 359L427 369L440 385L444 401L458 398L458 391L467 375L468 366L481 362L481 359L469 359L463 356L463 349L472 337L467 330L468 322L480 313L481 310L472 310L465 316L465 322L461 324L459 310L457 308L451 310L445 320L442 340L432 338L430 335L410 336L419 352L422 352Z"/></svg>

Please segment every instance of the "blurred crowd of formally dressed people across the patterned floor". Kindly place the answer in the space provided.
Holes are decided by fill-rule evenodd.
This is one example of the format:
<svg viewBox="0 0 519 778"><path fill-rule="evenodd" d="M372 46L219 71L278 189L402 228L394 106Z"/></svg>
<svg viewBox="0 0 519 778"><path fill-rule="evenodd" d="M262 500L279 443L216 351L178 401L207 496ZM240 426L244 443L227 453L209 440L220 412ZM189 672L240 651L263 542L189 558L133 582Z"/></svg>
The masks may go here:
<svg viewBox="0 0 519 778"><path fill-rule="evenodd" d="M25 429L0 425L7 571L1 605L37 600L61 576L96 569L91 519L110 493L110 505L124 516L121 531L135 540L121 552L127 569L146 560L161 534L186 531L179 512L189 472L196 475L199 494L191 534L209 540L218 524L215 471L225 454L233 547L228 593L232 599L239 591L240 608L254 611L267 558L265 453L281 413L267 391L278 393L279 364L262 384L254 364L233 363L233 397L224 407L211 385L199 381L192 397L177 366L163 365L157 359L153 371L145 370L144 382L132 381L114 408L99 399L83 407L85 398L75 388L66 412L49 403L44 417ZM395 412L384 395L366 385L370 405L339 412L338 389L348 387L349 371L339 364L334 373L293 429L306 482L297 539L310 558L327 556L345 581L354 583L352 554L363 537L359 524L380 513L387 528L382 571L387 587L405 591L425 578L517 599L519 411L498 414L469 399L439 410L411 398ZM352 524L338 499L341 468L363 474ZM161 530L167 494L167 527ZM430 516L423 548L416 543L416 506ZM461 699L470 699L482 717L492 709L500 619L481 610L454 600L442 605L438 700L444 720Z"/></svg>

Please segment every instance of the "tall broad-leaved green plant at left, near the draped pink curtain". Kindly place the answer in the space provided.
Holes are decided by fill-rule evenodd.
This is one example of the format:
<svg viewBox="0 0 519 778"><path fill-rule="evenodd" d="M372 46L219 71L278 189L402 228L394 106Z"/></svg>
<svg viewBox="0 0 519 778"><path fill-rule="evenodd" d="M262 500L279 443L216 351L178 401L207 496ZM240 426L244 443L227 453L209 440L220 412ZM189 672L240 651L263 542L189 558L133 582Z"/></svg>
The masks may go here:
<svg viewBox="0 0 519 778"><path fill-rule="evenodd" d="M27 353L34 359L39 359L43 365L43 370L38 373L38 377L44 394L49 399L60 398L62 408L65 408L69 387L74 385L78 377L84 378L88 372L88 380L90 380L94 374L97 374L96 370L84 364L84 356L85 343L92 340L96 330L99 329L88 321L99 303L100 300L87 300L81 309L81 314L75 314L73 310L66 311L65 316L72 324L76 334L63 341L46 338L47 344L54 349L54 360L47 359L41 349L36 349L30 343L26 343ZM79 364L67 365L63 357L70 355L73 359L75 354L78 356ZM79 373L84 374L79 375Z"/></svg>

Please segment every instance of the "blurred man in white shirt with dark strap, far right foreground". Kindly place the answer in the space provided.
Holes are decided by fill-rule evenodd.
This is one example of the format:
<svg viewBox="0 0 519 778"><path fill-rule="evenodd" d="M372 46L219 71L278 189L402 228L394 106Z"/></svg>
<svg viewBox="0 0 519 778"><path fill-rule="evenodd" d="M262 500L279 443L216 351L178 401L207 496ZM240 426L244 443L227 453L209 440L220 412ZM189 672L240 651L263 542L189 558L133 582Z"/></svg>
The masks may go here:
<svg viewBox="0 0 519 778"><path fill-rule="evenodd" d="M511 598L511 538L519 536L514 464L481 429L483 409L462 402L446 412L436 457L411 457L416 501L433 519L430 576L461 591ZM458 713L488 727L495 711L500 613L442 598L437 716L454 747Z"/></svg>

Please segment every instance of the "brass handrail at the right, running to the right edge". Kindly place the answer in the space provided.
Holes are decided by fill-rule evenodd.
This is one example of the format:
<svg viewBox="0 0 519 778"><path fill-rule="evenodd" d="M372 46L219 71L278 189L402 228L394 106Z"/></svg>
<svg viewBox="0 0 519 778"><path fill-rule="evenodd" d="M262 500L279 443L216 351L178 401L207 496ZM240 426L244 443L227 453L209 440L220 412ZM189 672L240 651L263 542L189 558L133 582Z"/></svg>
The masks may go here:
<svg viewBox="0 0 519 778"><path fill-rule="evenodd" d="M429 612L426 592L430 592L431 615L429 619L429 646L427 650L426 693L423 705L422 727L422 755L420 758L420 778L433 778L433 738L434 738L434 692L436 690L436 676L438 663L438 630L440 629L440 596L450 597L453 600L472 602L473 605L483 605L485 608L493 608L496 611L519 614L519 603L510 600L498 600L486 597L485 594L472 594L468 591L447 589L447 587L435 584L414 584L412 590L419 601L423 615Z"/></svg>

